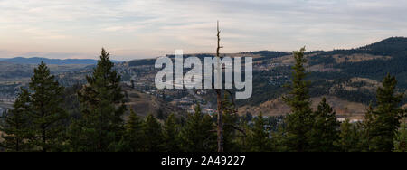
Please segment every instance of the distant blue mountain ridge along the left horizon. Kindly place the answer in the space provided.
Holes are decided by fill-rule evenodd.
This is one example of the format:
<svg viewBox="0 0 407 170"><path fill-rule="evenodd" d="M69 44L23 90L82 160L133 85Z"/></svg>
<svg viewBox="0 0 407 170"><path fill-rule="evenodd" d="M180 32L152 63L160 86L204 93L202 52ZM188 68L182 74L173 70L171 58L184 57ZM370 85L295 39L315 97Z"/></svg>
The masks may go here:
<svg viewBox="0 0 407 170"><path fill-rule="evenodd" d="M97 60L93 59L47 59L41 57L33 57L33 58L24 58L24 57L15 57L15 58L7 58L7 59L0 59L3 62L11 62L17 64L40 64L41 61L44 61L46 64L54 64L54 65L69 65L69 64L84 64L84 65L95 65L98 63ZM119 62L119 61L113 61Z"/></svg>

